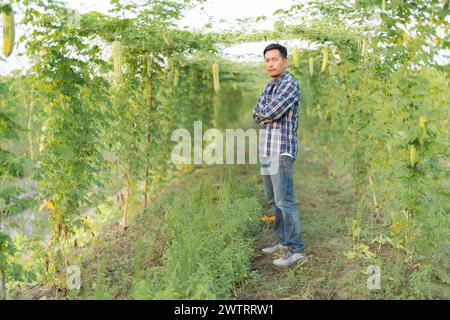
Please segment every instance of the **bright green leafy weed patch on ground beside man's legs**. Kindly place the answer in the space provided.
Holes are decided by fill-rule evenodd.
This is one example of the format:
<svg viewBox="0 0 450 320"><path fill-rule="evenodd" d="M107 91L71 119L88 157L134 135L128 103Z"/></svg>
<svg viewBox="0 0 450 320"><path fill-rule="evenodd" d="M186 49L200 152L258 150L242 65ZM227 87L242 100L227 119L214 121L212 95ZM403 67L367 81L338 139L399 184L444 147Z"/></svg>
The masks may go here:
<svg viewBox="0 0 450 320"><path fill-rule="evenodd" d="M136 281L133 298L226 298L242 281L252 255L259 205L250 195L251 184L235 179L228 172L218 192L203 181L197 190L170 203L161 226L168 243L162 263Z"/></svg>

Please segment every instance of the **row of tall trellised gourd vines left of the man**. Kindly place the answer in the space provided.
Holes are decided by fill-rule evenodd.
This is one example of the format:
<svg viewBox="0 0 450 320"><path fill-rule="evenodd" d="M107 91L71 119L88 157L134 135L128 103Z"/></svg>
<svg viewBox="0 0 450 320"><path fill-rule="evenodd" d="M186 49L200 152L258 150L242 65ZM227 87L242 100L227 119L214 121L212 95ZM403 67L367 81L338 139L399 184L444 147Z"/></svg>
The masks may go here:
<svg viewBox="0 0 450 320"><path fill-rule="evenodd" d="M145 210L174 172L185 169L170 161L172 132L192 133L194 121L207 129L237 118L248 87L240 85L253 67L218 58L211 36L177 28L189 5L115 1L104 15L79 14L62 1L9 1L23 17L27 37L20 42L31 63L25 76L8 80L23 92L2 92L3 101L21 123L27 111L18 136L27 151L15 152L31 163L27 178L38 185L30 206L48 215L50 231L39 245L31 241L40 253L26 265L33 281L50 283L63 296L68 268L83 263L81 247L89 246L77 235L99 236L85 211L115 186L125 230L131 200L141 203L134 210ZM12 127L5 130L13 135ZM24 262L4 243L10 265Z"/></svg>

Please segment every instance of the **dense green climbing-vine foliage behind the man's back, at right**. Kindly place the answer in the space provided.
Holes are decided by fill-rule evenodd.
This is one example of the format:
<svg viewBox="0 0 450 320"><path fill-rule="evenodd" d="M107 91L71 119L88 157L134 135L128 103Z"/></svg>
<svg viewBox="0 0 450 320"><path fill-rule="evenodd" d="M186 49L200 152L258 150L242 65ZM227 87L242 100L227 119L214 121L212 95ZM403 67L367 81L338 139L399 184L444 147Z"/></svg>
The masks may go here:
<svg viewBox="0 0 450 320"><path fill-rule="evenodd" d="M405 7L399 10L407 10ZM409 21L404 12L398 14L396 19ZM416 39L404 37L400 42L385 43L383 21L380 29L375 29L379 35L366 44L365 58L355 54L361 51L361 44L343 47L344 59L337 64L337 73L311 78L306 67L295 73L307 97L303 101L304 132L310 131L308 139L326 148L333 163L346 164L357 195L373 206L376 195L376 209L386 220L390 243L408 255L408 264L419 266L410 281L417 288L413 294L422 296L420 288L426 288L426 282L448 281L444 248L449 239L449 199L444 190L449 177L450 90L445 73L418 65L419 61L429 63L433 53L401 45L421 41L425 34L438 35L419 28L422 36ZM328 38L309 32L311 40L329 41L341 48L341 36L326 33L320 23L314 28L323 30ZM396 32L401 35L403 31ZM358 33L353 36L358 37ZM309 52L302 53L307 56ZM353 221L355 237L359 227L357 220Z"/></svg>

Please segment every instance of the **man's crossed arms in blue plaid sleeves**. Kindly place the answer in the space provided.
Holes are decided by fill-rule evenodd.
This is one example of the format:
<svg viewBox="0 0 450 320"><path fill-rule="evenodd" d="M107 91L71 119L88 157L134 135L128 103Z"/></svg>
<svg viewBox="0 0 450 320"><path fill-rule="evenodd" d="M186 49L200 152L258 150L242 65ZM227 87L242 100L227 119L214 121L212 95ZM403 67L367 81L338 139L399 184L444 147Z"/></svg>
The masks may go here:
<svg viewBox="0 0 450 320"><path fill-rule="evenodd" d="M266 103L264 95L259 98L253 110L253 120L257 124L276 121L283 116L300 99L297 86L291 82L282 83L279 93L270 103Z"/></svg>

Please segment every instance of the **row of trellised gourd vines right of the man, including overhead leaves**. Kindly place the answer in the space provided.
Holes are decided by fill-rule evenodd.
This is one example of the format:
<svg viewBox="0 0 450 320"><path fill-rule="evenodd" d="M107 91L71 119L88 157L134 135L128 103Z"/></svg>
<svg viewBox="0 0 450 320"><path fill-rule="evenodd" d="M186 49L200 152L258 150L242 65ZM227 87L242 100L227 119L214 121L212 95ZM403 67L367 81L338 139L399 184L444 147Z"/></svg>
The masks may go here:
<svg viewBox="0 0 450 320"><path fill-rule="evenodd" d="M415 11L422 6L425 11ZM405 253L407 291L442 296L450 283L448 66L436 65L433 52L419 44L445 39L421 24L413 35L404 25L431 14L437 28L448 28L448 2L388 3L381 12L376 4L315 9L320 22L285 27L316 44L292 55L302 84L300 135L352 174L355 194L368 204L361 208L373 213L355 212L352 234L358 229L359 236L368 220L383 223L377 239ZM336 21L348 17L348 23L353 14L379 20L340 24L336 32Z"/></svg>

